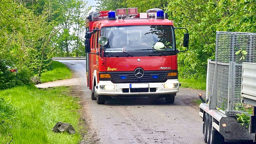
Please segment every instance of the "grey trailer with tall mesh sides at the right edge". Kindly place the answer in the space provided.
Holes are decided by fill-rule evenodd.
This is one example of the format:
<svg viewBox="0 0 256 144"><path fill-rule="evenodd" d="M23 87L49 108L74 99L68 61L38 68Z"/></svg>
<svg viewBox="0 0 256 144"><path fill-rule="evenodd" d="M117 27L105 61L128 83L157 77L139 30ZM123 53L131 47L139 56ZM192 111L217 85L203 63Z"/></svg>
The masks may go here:
<svg viewBox="0 0 256 144"><path fill-rule="evenodd" d="M207 65L206 101L199 106L206 143L255 142L255 63L256 33L217 31L215 60ZM250 116L250 123L239 123L239 116Z"/></svg>

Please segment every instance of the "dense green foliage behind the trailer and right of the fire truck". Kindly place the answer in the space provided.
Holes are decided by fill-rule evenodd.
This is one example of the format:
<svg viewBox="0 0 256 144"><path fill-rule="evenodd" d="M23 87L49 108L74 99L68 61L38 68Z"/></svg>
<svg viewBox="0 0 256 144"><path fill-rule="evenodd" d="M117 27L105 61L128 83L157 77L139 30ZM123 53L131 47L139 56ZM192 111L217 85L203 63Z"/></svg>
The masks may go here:
<svg viewBox="0 0 256 144"><path fill-rule="evenodd" d="M100 0L98 9L138 7L139 12L161 8L174 27L188 28L189 51L178 54L183 78L205 79L207 60L215 59L216 31L255 32L255 0ZM182 50L184 31L176 30L177 48ZM243 54L243 53L242 53ZM243 59L243 58L242 58Z"/></svg>

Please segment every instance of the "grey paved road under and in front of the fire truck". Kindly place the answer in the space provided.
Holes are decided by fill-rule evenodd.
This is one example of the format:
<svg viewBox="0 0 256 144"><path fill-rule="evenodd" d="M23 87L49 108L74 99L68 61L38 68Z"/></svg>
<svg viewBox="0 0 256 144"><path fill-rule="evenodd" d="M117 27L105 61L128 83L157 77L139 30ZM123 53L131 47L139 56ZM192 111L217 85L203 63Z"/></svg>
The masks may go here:
<svg viewBox="0 0 256 144"><path fill-rule="evenodd" d="M125 98L107 100L97 105L86 86L85 60L59 60L72 69L81 86L82 116L90 127L94 143L188 143L204 144L202 119L191 100L198 90L181 88L174 104L164 99ZM205 94L205 93L204 93Z"/></svg>

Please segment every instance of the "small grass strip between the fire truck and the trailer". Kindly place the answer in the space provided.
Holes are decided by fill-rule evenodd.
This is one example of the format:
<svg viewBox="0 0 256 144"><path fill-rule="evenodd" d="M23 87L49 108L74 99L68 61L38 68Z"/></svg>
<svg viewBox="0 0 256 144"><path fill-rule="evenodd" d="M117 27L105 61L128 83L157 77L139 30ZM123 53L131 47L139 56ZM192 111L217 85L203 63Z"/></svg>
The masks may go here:
<svg viewBox="0 0 256 144"><path fill-rule="evenodd" d="M182 78L179 76L179 82L181 83L181 87L206 90L206 80L204 79Z"/></svg>

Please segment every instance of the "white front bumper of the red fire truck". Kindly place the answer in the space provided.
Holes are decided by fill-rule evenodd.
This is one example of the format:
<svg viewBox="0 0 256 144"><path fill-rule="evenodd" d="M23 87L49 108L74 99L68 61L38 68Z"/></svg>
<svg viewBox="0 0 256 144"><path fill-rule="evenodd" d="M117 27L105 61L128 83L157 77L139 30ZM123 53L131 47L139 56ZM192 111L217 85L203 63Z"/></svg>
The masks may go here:
<svg viewBox="0 0 256 144"><path fill-rule="evenodd" d="M177 83L177 88L164 88L164 84L166 83ZM115 85L115 89L113 90L101 90L100 85ZM98 84L98 88L96 89L96 93L99 95L148 95L148 94L169 94L179 92L179 81L178 79L168 79L164 83L141 83L141 84L149 84L149 88L156 88L156 92L123 92L123 88L130 88L130 83L125 84L114 84L111 81L100 81ZM148 90L149 91L149 90Z"/></svg>

